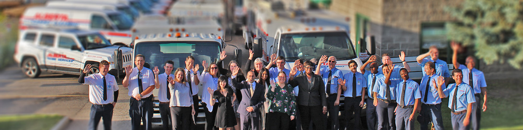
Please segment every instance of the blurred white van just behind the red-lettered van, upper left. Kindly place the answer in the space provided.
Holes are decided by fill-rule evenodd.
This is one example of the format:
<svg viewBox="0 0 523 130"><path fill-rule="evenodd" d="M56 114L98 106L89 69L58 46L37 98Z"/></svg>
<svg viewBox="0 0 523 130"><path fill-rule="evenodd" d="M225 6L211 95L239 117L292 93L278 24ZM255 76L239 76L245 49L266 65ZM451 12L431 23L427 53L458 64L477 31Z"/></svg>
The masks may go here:
<svg viewBox="0 0 523 130"><path fill-rule="evenodd" d="M120 11L122 14L131 18L133 21L140 16L140 12L134 7L124 4L106 3L106 2L91 2L91 1L49 1L46 3L47 7L74 7L98 10L113 10Z"/></svg>

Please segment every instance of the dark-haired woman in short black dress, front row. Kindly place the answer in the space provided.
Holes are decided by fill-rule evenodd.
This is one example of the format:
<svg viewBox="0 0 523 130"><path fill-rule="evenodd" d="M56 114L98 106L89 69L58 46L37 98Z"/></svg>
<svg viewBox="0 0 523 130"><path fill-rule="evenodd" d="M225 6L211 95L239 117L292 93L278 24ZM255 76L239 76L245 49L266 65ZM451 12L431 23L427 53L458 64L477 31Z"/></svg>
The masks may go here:
<svg viewBox="0 0 523 130"><path fill-rule="evenodd" d="M236 94L228 86L228 77L220 76L218 78L218 89L213 92L208 88L207 91L211 94L210 105L218 105L216 113L215 126L222 129L233 129L236 125L236 115L234 113L233 104L236 100ZM218 100L218 102L216 102Z"/></svg>

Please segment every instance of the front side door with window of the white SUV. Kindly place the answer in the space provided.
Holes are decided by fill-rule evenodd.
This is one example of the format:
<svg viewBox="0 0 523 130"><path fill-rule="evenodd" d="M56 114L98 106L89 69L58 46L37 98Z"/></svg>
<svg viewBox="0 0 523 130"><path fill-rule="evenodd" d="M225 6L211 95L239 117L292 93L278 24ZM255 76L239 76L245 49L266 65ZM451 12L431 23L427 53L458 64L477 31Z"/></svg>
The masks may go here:
<svg viewBox="0 0 523 130"><path fill-rule="evenodd" d="M60 35L58 38L56 60L57 71L80 72L82 68L82 49L73 36Z"/></svg>

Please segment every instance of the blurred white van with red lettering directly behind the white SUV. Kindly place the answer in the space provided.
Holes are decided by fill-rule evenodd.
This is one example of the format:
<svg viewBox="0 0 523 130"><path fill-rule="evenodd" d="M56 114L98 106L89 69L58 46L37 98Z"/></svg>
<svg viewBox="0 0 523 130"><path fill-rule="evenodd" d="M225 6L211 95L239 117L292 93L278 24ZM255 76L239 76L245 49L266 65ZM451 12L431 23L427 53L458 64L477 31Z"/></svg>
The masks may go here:
<svg viewBox="0 0 523 130"><path fill-rule="evenodd" d="M76 28L98 31L110 43L129 45L133 23L118 11L74 7L31 7L20 17L20 29Z"/></svg>

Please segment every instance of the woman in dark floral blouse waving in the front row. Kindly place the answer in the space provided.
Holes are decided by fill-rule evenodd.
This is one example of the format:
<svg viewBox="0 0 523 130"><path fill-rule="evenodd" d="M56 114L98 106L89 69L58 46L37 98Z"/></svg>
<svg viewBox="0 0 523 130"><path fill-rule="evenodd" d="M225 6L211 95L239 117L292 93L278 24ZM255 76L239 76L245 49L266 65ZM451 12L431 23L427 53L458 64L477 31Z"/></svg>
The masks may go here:
<svg viewBox="0 0 523 130"><path fill-rule="evenodd" d="M289 129L289 122L296 115L296 98L292 87L286 83L287 74L278 73L278 83L271 83L267 98L271 101L267 113L267 129Z"/></svg>

